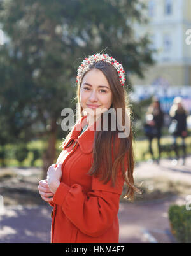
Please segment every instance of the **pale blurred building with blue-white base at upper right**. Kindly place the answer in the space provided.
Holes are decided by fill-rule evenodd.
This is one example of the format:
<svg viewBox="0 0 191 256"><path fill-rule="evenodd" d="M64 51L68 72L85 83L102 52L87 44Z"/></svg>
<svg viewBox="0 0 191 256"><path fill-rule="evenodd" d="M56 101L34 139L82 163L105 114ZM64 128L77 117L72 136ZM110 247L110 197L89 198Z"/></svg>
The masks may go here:
<svg viewBox="0 0 191 256"><path fill-rule="evenodd" d="M144 72L145 78L131 76L139 100L155 95L168 111L174 97L181 96L191 111L191 1L140 0L146 3L148 25L136 25L138 36L148 33L156 64Z"/></svg>

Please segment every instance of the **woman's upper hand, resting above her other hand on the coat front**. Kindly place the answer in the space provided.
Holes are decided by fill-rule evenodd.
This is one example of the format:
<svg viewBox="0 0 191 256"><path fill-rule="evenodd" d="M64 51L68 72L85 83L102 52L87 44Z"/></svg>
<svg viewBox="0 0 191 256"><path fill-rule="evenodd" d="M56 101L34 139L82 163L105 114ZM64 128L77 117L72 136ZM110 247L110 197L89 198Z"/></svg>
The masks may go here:
<svg viewBox="0 0 191 256"><path fill-rule="evenodd" d="M57 188L60 185L61 177L62 177L62 164L52 164L52 166L48 168L47 180L48 180L48 187L50 188L53 194L55 194Z"/></svg>

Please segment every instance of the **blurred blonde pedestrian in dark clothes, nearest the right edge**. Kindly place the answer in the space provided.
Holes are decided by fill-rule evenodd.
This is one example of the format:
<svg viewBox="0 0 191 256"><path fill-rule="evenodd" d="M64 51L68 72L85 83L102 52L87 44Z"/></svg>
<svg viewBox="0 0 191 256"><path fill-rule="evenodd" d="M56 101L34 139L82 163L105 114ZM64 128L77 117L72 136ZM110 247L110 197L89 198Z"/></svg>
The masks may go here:
<svg viewBox="0 0 191 256"><path fill-rule="evenodd" d="M183 164L186 160L186 143L185 138L187 136L187 111L183 107L182 98L175 97L173 106L169 111L169 115L172 118L169 132L173 135L173 146L176 153L176 159L173 160L173 164L178 164L180 158L179 147L177 144L177 138L181 137L181 147L183 149Z"/></svg>

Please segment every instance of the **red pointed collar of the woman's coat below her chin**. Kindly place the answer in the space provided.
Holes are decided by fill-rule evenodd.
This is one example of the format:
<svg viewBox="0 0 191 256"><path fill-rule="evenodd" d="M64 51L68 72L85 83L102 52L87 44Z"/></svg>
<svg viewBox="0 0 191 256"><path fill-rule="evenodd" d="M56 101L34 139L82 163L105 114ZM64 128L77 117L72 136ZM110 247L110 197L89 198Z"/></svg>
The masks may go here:
<svg viewBox="0 0 191 256"><path fill-rule="evenodd" d="M76 124L74 125L73 129L71 130L70 138L64 143L63 149L69 145L69 143L74 140L78 141L81 151L83 153L91 153L94 147L94 136L95 136L95 129L96 129L96 122L94 124L87 127L87 129L80 134L83 127L87 124L87 116L81 117Z"/></svg>

